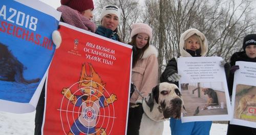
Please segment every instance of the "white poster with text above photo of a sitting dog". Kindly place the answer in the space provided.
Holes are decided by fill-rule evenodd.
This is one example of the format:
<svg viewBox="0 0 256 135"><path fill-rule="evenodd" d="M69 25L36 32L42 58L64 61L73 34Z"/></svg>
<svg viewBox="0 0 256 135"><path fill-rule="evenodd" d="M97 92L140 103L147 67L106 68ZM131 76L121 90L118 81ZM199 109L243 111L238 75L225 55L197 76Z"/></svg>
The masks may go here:
<svg viewBox="0 0 256 135"><path fill-rule="evenodd" d="M179 88L186 113L182 122L227 121L231 119L230 100L221 57L180 57Z"/></svg>

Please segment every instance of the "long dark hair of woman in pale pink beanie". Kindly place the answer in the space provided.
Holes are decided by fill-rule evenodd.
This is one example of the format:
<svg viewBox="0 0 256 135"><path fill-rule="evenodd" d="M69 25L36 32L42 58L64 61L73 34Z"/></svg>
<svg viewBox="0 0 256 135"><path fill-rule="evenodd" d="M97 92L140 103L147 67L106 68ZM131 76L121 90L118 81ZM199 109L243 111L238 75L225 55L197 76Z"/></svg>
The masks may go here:
<svg viewBox="0 0 256 135"><path fill-rule="evenodd" d="M132 41L128 43L128 44L132 45L133 48L135 48L135 49L133 49L133 50L136 50L136 51L133 51L133 53L134 53L134 54L133 54L133 56L134 56L134 57L133 57L133 68L134 68L135 64L137 63L137 61L142 58L142 56L143 56L145 50L150 46L150 38L148 38L146 45L145 45L142 49L138 49L138 48L136 47L136 37L137 37L137 36L138 36L138 34L134 35L134 36L132 37Z"/></svg>

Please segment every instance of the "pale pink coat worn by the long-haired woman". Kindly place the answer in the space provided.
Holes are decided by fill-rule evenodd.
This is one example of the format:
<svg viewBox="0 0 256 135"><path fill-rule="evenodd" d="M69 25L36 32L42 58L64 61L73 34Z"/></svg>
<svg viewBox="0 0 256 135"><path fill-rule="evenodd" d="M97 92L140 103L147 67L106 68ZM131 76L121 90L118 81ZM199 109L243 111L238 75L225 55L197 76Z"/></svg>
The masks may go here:
<svg viewBox="0 0 256 135"><path fill-rule="evenodd" d="M148 96L152 88L158 84L157 56L157 49L150 45L132 69L132 82L143 96ZM138 92L134 92L130 102L140 102L141 99L142 97L139 96Z"/></svg>

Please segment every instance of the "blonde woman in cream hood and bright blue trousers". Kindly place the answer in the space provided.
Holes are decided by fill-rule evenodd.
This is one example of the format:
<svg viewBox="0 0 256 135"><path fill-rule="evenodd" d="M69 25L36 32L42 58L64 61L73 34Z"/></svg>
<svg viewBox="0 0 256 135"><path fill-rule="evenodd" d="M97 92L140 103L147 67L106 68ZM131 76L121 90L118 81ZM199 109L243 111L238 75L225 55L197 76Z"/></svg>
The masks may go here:
<svg viewBox="0 0 256 135"><path fill-rule="evenodd" d="M180 37L180 54L181 57L204 57L208 51L208 43L204 34L197 29L188 29ZM176 58L170 59L164 72L160 77L160 82L174 83L179 86ZM181 123L180 119L170 119L170 130L172 135L187 134L209 134L211 121L198 121Z"/></svg>

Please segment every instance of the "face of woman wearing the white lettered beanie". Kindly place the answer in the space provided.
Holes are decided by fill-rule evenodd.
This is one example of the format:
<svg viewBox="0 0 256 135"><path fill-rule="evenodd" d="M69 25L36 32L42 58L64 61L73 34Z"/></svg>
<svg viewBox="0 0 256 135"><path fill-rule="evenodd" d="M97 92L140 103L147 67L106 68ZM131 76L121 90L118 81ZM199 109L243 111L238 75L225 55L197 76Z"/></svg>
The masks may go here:
<svg viewBox="0 0 256 135"><path fill-rule="evenodd" d="M104 28L111 29L112 31L116 30L118 24L119 20L115 14L107 14L101 20L101 25Z"/></svg>

